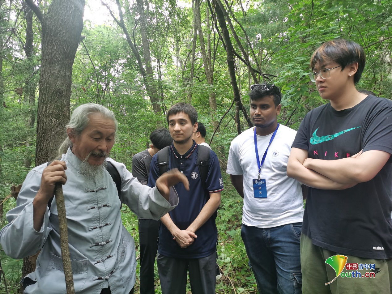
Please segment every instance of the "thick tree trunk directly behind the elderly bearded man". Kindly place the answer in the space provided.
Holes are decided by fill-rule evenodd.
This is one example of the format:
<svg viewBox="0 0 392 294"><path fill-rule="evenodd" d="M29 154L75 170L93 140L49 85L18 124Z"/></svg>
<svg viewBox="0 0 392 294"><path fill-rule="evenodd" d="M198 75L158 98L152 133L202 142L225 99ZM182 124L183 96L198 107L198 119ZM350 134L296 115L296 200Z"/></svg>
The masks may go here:
<svg viewBox="0 0 392 294"><path fill-rule="evenodd" d="M35 164L53 160L69 121L72 65L82 40L85 0L53 0L42 14L26 0L42 25L42 57Z"/></svg>

